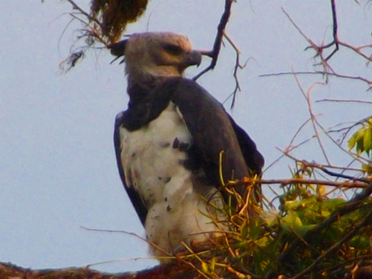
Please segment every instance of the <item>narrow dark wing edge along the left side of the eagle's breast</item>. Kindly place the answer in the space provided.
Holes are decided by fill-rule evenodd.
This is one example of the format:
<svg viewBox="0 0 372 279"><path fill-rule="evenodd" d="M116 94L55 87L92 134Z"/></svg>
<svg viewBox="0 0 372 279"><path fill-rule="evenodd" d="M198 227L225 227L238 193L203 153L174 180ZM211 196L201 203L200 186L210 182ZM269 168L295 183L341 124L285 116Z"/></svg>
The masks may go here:
<svg viewBox="0 0 372 279"><path fill-rule="evenodd" d="M116 154L116 163L118 164L120 178L121 178L121 181L124 185L126 192L128 193L129 199L131 199L131 202L138 214L138 217L140 217L142 225L145 225L147 209L144 203L142 202L138 192L136 192L133 187L128 187L128 185L126 185L124 169L121 163L121 141L120 141L119 127L123 126L124 123L128 122L127 118L128 118L128 113L126 111L118 113L118 115L116 115L116 118L115 118L114 146L115 146L115 154Z"/></svg>

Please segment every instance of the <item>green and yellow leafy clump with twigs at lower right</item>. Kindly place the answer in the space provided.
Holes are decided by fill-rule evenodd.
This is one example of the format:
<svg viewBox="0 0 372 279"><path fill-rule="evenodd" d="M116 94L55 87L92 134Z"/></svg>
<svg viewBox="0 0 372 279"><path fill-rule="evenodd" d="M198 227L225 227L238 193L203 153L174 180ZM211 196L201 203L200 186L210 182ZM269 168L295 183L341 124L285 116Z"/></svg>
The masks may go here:
<svg viewBox="0 0 372 279"><path fill-rule="evenodd" d="M279 212L230 215L232 232L185 260L199 262L206 278L351 278L372 264L372 197L344 214L347 201L311 188L287 186Z"/></svg>

